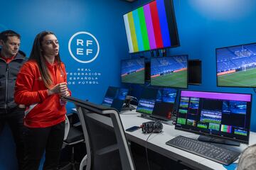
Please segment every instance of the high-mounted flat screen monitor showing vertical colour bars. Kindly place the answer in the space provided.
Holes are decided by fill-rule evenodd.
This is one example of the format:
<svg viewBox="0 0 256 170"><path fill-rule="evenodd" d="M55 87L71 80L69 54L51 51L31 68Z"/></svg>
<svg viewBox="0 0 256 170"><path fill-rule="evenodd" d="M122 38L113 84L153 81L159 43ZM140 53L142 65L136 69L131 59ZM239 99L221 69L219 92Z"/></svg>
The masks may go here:
<svg viewBox="0 0 256 170"><path fill-rule="evenodd" d="M155 0L124 14L129 52L179 46L172 0Z"/></svg>

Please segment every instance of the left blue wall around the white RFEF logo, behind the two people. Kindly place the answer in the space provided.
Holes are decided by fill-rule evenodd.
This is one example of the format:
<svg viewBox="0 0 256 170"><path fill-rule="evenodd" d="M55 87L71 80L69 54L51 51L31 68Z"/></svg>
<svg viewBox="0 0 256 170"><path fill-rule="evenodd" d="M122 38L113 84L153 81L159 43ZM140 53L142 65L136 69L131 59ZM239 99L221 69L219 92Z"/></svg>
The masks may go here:
<svg viewBox="0 0 256 170"><path fill-rule="evenodd" d="M12 29L20 33L21 50L27 55L36 34L52 30L60 42L60 57L67 72L79 68L100 73L98 84L69 85L73 96L100 103L108 86L120 86L119 58L129 56L122 15L132 8L131 4L116 0L9 0L0 4L0 31ZM91 33L100 44L97 59L88 64L76 62L68 51L71 36L79 31ZM0 135L0 169L16 169L14 152L6 126Z"/></svg>

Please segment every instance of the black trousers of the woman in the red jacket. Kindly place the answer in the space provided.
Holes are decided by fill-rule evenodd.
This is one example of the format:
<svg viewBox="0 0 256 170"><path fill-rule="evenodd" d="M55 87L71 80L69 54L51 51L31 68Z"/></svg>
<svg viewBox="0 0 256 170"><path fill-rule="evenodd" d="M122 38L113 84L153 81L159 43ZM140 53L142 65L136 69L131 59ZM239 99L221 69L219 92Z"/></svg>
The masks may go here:
<svg viewBox="0 0 256 170"><path fill-rule="evenodd" d="M43 152L46 161L43 169L57 169L63 145L65 122L48 128L26 128L24 170L38 170Z"/></svg>

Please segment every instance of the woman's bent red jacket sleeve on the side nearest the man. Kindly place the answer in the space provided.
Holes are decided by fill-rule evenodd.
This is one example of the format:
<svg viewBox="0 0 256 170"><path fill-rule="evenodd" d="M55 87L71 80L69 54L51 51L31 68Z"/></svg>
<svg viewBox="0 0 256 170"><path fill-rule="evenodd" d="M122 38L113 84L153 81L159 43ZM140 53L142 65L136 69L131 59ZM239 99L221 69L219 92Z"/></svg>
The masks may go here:
<svg viewBox="0 0 256 170"><path fill-rule="evenodd" d="M18 73L15 85L14 100L18 104L29 106L33 103L41 103L48 97L47 89L32 91L36 80L36 67L31 64L23 64Z"/></svg>

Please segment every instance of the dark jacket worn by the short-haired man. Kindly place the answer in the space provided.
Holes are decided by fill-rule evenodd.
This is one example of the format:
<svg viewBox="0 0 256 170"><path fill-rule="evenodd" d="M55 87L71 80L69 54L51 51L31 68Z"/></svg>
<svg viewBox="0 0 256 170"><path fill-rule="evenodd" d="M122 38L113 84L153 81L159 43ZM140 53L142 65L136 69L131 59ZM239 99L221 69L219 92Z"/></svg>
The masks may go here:
<svg viewBox="0 0 256 170"><path fill-rule="evenodd" d="M14 60L11 60L9 64L0 58L0 110L17 106L14 102L15 81L19 69L26 61L26 55L21 51L18 51ZM3 114L3 111L0 111L0 114Z"/></svg>

